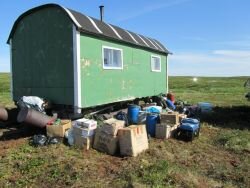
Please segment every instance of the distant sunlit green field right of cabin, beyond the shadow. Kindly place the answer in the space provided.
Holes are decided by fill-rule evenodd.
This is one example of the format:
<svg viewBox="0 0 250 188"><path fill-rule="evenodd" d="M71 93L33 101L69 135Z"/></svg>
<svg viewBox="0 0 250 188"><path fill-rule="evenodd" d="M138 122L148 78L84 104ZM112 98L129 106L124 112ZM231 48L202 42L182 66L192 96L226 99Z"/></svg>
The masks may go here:
<svg viewBox="0 0 250 188"><path fill-rule="evenodd" d="M247 77L200 77L194 82L191 77L170 77L170 91L177 98L190 103L209 101L217 106L249 105L243 87Z"/></svg>

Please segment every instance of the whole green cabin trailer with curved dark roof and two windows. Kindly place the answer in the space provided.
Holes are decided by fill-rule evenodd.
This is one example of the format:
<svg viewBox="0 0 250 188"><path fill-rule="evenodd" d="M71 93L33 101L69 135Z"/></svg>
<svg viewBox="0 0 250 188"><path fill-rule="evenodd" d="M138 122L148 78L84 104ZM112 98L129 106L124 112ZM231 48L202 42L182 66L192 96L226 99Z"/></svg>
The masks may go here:
<svg viewBox="0 0 250 188"><path fill-rule="evenodd" d="M23 13L7 43L14 101L87 108L168 89L169 51L159 41L57 4Z"/></svg>

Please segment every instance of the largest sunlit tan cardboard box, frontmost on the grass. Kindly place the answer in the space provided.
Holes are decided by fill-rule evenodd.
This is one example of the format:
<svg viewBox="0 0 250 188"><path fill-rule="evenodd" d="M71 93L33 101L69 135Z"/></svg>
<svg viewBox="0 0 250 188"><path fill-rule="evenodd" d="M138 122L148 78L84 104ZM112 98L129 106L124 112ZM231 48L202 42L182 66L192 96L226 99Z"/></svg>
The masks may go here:
<svg viewBox="0 0 250 188"><path fill-rule="evenodd" d="M148 149L148 137L145 125L131 125L119 129L120 154L125 156L137 156Z"/></svg>

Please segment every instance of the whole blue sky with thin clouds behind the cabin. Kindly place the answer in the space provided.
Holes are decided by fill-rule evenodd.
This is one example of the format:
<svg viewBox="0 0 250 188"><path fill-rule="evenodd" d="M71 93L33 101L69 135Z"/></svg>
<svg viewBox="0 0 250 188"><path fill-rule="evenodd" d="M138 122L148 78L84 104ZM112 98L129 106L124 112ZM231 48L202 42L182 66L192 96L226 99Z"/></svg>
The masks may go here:
<svg viewBox="0 0 250 188"><path fill-rule="evenodd" d="M17 17L58 3L160 40L173 55L170 75L250 76L249 0L1 0L0 72L9 72L6 40Z"/></svg>

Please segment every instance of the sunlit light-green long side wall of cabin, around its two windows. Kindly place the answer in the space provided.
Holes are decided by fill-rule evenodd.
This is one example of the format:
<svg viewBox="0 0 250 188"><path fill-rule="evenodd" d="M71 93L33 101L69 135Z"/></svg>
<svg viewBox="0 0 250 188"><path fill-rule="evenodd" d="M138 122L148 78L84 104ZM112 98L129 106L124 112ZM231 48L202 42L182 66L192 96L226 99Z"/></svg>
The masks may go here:
<svg viewBox="0 0 250 188"><path fill-rule="evenodd" d="M123 49L123 70L103 69L102 46ZM80 37L82 106L96 106L166 92L166 55ZM151 55L161 56L161 72L151 71Z"/></svg>

